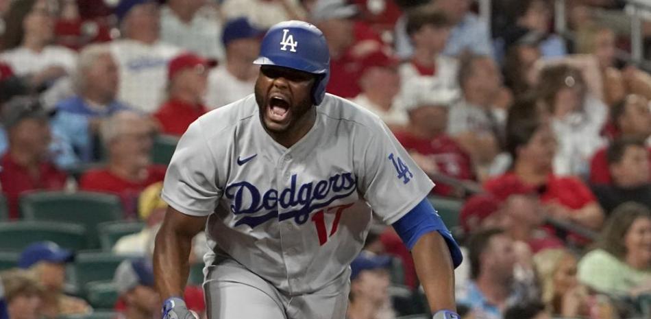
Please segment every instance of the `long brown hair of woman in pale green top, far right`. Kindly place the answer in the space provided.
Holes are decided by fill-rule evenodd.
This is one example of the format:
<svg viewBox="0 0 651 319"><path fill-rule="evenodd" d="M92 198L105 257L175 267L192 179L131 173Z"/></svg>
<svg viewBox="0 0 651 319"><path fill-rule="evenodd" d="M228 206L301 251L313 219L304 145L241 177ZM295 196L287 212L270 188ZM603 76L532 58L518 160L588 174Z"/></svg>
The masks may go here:
<svg viewBox="0 0 651 319"><path fill-rule="evenodd" d="M636 202L625 202L617 206L606 220L606 225L597 241L596 248L605 250L619 259L624 259L628 253L624 245L624 237L630 230L630 226L638 218L651 220L651 211L646 206Z"/></svg>

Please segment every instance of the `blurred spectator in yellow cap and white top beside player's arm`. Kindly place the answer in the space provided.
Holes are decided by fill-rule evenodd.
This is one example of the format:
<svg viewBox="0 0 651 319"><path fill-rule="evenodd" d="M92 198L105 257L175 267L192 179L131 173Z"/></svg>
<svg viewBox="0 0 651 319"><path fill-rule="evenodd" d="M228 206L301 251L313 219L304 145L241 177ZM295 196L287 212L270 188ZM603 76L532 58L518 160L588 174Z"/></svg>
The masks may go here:
<svg viewBox="0 0 651 319"><path fill-rule="evenodd" d="M167 203L160 198L162 182L149 185L140 193L138 198L138 217L145 222L140 233L121 237L113 246L113 252L121 255L151 256L153 253L153 237L165 216Z"/></svg>

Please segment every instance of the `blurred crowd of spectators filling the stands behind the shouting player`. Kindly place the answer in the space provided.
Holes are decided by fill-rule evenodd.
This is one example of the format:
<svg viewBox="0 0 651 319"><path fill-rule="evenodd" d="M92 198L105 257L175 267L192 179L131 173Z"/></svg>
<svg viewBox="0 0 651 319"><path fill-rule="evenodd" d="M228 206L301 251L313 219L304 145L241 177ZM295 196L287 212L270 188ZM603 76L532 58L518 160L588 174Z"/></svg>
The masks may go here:
<svg viewBox="0 0 651 319"><path fill-rule="evenodd" d="M378 115L436 182L463 246L463 318L651 318L651 75L619 54L626 1L565 5L556 34L547 0L493 0L491 21L471 0L0 0L4 223L44 191L107 193L141 223L109 248L124 257L113 305L73 287L74 249L23 242L0 272L0 318L160 316L149 258L166 162L152 153L253 93L265 29L291 19L326 36L328 93ZM193 248L200 265L205 236ZM349 319L428 312L391 227L371 227L351 281ZM200 282L186 300L202 314Z"/></svg>

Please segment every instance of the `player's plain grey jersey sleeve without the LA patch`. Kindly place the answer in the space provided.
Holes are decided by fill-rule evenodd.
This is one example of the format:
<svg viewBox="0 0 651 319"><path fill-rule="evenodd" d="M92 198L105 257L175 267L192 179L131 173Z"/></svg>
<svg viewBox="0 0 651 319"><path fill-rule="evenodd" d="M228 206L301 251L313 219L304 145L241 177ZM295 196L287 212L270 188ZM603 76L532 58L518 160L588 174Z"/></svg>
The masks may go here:
<svg viewBox="0 0 651 319"><path fill-rule="evenodd" d="M211 150L201 122L195 121L181 137L165 174L161 197L177 211L208 216L217 207L223 192Z"/></svg>

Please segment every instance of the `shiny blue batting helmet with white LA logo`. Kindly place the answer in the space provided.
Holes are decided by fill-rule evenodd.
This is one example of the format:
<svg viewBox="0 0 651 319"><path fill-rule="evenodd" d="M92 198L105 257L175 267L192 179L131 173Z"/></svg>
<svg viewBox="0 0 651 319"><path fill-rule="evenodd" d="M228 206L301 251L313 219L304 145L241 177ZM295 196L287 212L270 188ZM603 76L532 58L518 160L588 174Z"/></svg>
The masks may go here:
<svg viewBox="0 0 651 319"><path fill-rule="evenodd" d="M303 21L284 21L273 25L262 38L258 65L277 65L318 75L312 98L321 104L330 78L330 52L323 33Z"/></svg>

